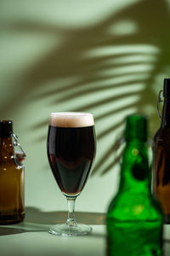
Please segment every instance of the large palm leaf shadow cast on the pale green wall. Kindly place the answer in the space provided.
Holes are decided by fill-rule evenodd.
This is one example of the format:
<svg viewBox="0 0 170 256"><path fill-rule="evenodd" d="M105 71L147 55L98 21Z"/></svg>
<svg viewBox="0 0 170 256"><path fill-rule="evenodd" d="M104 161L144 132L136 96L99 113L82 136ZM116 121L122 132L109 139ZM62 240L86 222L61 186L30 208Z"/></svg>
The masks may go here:
<svg viewBox="0 0 170 256"><path fill-rule="evenodd" d="M20 102L25 101L27 94L29 95L30 91L32 93L32 101L36 101L37 99L41 100L42 98L49 96L51 98L50 102L53 106L56 102L70 102L71 109L70 111L93 111L94 115L97 112L100 106L105 106L106 104L111 102L119 102L122 98L127 98L128 96L139 96L139 100L135 103L129 104L127 109L129 111L131 107L135 108L135 112L143 113L144 107L155 108L156 96L153 92L152 85L154 84L155 77L157 73L161 73L163 67L169 67L169 57L170 52L168 49L169 46L169 38L167 37L167 27L169 24L169 13L167 12L167 5L164 1L156 0L155 1L156 8L153 7L153 1L144 0L138 3L133 3L129 5L126 9L122 9L118 11L116 15L111 15L108 19L101 21L99 24L95 26L88 26L83 29L64 29L59 26L45 26L38 23L31 23L30 20L26 22L22 22L22 24L14 23L10 29L16 31L36 31L39 33L44 33L46 35L55 35L57 36L57 32L61 34L65 34L66 40L60 46L60 48L56 47L48 54L42 56L37 63L31 66L30 69L23 74L21 82L25 84L23 86L23 90L17 92L17 95L13 96L13 102L18 102L18 98L21 99ZM159 18L159 20L157 20ZM132 20L136 26L138 26L138 31L133 34L124 34L124 35L113 35L109 34L108 31L117 22L121 20ZM155 22L155 20L157 20ZM148 26L150 24L150 26ZM157 26L158 25L158 26ZM107 47L116 47L117 45L121 45L123 49L123 53L120 51L118 53L114 52L112 55L104 55L104 56L96 56L96 55L86 55L93 49L98 48L107 48ZM147 72L148 78L144 79L133 79L133 75L135 72L132 70L131 73L126 73L126 71L122 71L120 73L114 73L114 70L117 67L122 67L123 65L113 64L108 65L105 64L105 61L117 60L119 58L127 57L129 55L146 55L145 51L137 50L137 52L133 52L131 48L130 51L127 46L139 46L139 45L151 45L157 52L150 52L150 55L156 56L156 62L150 63L151 69ZM167 55L168 53L168 55ZM84 56L84 57L83 57ZM125 66L136 65L138 64L147 65L147 62L144 61L133 61L131 64L126 63ZM108 69L113 69L113 74L109 74ZM118 96L114 95L114 90L112 95L99 98L97 101L85 101L82 100L82 103L77 105L75 108L74 101L76 99L82 98L82 96L90 96L95 95L97 92L102 90L109 90L111 85L105 84L105 80L107 79L119 79L126 75L132 75L132 79L128 82L123 82L125 86L127 86L127 90L124 93L119 94ZM143 71L139 70L139 76L143 75ZM78 77L77 81L71 82L71 84L66 85L57 85L57 81L59 79ZM49 81L56 80L56 87L45 88L46 84ZM135 82L143 82L144 88L140 91L128 91L128 86L135 84ZM101 86L96 85L97 83L103 82L103 88ZM95 85L94 85L94 84ZM88 84L92 84L89 87ZM114 83L112 88L120 88L120 82ZM39 88L39 93L35 92L34 89ZM42 89L46 89L45 92L42 92ZM37 91L37 90L36 90ZM67 94L65 94L65 91ZM54 96L58 98L55 99ZM74 96L74 98L73 98ZM8 109L13 108L13 102L8 102ZM110 117L111 119L114 117L116 113L122 113L122 110L125 110L126 107L120 106L116 108L116 111L110 110L107 113L98 113L96 114L96 125L98 122L104 118L104 116ZM147 112L147 110L145 110ZM117 125L112 124L110 127L105 128L104 131L100 132L98 135L98 139L102 139L105 136L110 136L116 131L118 126L123 125L124 116L122 116L122 121L117 122ZM150 122L152 124L157 122L156 113L152 113L150 116ZM47 119L43 119L41 122L37 122L36 125L32 125L31 131L34 129L40 129L47 125ZM152 125L151 133L154 130L154 125ZM44 136L45 137L45 136ZM39 137L37 140L41 141L44 137ZM111 154L113 154L114 148L116 144L111 143L105 151L103 151L102 160L105 158L109 158ZM105 174L111 171L112 167L116 165L116 163L120 160L122 154L116 156L115 160L109 164L106 169L102 170L103 165L102 161L98 160L96 162L96 166L94 167L94 174L99 173L98 169L102 170L101 173Z"/></svg>

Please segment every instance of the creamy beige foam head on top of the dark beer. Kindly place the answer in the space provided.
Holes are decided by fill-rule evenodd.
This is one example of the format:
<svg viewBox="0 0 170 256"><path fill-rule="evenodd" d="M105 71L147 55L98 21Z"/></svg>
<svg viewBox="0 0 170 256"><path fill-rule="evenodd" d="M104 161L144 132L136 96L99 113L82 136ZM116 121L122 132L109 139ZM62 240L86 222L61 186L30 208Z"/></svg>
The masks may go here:
<svg viewBox="0 0 170 256"><path fill-rule="evenodd" d="M51 113L49 125L56 127L88 127L94 125L92 113L56 112Z"/></svg>

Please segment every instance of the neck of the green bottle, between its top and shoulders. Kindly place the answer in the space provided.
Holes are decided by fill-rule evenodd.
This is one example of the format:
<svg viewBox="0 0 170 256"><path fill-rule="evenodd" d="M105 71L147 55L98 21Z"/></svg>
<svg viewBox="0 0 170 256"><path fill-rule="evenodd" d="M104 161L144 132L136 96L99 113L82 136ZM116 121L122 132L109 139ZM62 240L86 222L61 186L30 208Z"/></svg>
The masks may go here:
<svg viewBox="0 0 170 256"><path fill-rule="evenodd" d="M124 150L119 191L150 192L148 152L145 143L137 138L128 141Z"/></svg>

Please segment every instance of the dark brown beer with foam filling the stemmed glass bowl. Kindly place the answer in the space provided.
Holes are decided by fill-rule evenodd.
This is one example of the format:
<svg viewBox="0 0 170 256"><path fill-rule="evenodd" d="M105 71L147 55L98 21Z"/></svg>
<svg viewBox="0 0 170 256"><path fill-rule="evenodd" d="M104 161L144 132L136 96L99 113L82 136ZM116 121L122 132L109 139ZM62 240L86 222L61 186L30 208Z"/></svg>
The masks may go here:
<svg viewBox="0 0 170 256"><path fill-rule="evenodd" d="M63 121L62 116L57 120L52 116L48 127L48 160L65 195L81 193L94 162L94 124L84 120L75 116L70 121L68 116Z"/></svg>

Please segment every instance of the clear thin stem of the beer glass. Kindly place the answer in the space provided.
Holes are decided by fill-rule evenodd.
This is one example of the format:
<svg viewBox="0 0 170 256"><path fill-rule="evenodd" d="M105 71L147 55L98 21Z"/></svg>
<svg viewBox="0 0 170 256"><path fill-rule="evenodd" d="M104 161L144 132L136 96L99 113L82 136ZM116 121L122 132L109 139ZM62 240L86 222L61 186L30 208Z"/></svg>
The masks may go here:
<svg viewBox="0 0 170 256"><path fill-rule="evenodd" d="M66 197L66 199L68 203L68 218L66 224L69 225L70 227L77 226L74 212L76 197Z"/></svg>

